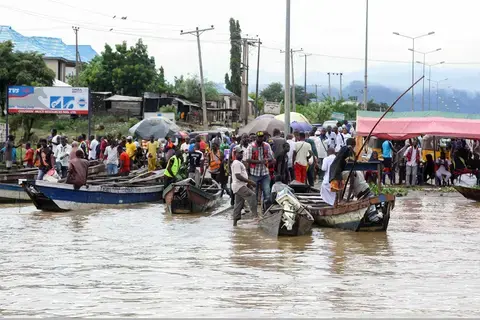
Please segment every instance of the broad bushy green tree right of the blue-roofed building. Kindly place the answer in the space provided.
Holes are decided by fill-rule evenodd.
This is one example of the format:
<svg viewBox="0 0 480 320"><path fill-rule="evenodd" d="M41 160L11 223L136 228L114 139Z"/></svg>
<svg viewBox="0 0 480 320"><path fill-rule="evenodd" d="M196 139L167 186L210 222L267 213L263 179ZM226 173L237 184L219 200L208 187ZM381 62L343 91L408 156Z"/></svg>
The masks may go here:
<svg viewBox="0 0 480 320"><path fill-rule="evenodd" d="M165 84L163 72L163 68L155 68L155 59L148 55L142 39L130 48L126 42L117 44L115 50L106 44L102 54L85 66L78 85L92 91L141 96L152 86Z"/></svg>

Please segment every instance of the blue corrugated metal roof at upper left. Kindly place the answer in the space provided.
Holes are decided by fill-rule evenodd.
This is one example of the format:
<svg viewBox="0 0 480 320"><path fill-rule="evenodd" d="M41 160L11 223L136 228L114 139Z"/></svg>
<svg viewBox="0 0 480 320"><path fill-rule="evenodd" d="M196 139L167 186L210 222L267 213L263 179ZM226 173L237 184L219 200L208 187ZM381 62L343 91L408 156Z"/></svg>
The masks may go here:
<svg viewBox="0 0 480 320"><path fill-rule="evenodd" d="M0 42L8 40L15 44L17 51L36 51L43 54L45 58L75 61L75 46L66 45L60 38L26 37L10 26L0 26ZM97 54L89 45L79 46L78 51L82 62L89 62Z"/></svg>

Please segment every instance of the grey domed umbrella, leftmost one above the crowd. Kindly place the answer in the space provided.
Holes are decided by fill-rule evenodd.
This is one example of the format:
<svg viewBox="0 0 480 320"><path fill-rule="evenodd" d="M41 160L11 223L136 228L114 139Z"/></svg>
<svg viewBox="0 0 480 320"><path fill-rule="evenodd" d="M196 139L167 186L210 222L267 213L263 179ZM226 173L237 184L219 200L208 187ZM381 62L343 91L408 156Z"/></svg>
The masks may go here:
<svg viewBox="0 0 480 320"><path fill-rule="evenodd" d="M166 136L174 136L180 131L180 128L167 118L153 117L140 121L128 131L142 139L150 139L151 136L160 139Z"/></svg>

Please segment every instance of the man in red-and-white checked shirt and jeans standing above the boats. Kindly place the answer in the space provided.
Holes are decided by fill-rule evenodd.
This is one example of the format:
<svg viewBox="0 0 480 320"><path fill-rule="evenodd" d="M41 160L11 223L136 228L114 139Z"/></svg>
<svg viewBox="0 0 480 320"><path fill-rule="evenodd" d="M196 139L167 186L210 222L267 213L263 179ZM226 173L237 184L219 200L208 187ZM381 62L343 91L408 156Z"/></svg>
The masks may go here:
<svg viewBox="0 0 480 320"><path fill-rule="evenodd" d="M268 163L273 161L273 152L270 145L263 141L264 133L259 131L256 134L257 139L247 148L246 161L250 169L250 179L257 184L256 194L263 193L264 209L268 208L270 203L270 174Z"/></svg>

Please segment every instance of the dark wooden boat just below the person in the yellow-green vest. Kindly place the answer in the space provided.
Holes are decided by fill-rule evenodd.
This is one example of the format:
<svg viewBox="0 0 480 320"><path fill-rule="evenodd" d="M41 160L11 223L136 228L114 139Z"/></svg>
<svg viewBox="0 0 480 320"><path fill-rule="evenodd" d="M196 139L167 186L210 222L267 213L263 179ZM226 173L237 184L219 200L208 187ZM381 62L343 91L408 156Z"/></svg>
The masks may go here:
<svg viewBox="0 0 480 320"><path fill-rule="evenodd" d="M222 188L213 179L205 178L202 187L192 179L172 183L163 191L167 212L188 214L206 212L215 207L222 198Z"/></svg>

